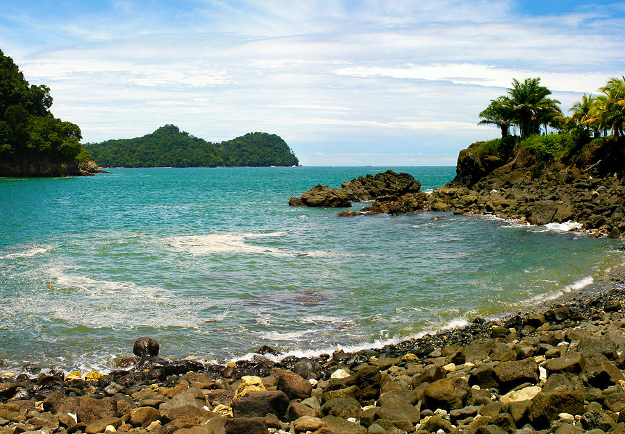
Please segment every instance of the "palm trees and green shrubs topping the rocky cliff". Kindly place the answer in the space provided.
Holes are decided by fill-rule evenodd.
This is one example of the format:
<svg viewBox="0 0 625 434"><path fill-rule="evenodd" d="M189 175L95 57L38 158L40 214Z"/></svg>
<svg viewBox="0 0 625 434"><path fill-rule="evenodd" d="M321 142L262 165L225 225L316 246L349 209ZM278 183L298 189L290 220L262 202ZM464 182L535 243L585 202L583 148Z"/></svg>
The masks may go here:
<svg viewBox="0 0 625 434"><path fill-rule="evenodd" d="M505 95L480 112L480 124L495 125L501 138L476 142L475 155L517 155L525 149L544 163L599 164L621 173L625 162L625 76L610 78L598 96L582 96L566 116L540 78L512 80ZM518 134L517 134L518 132Z"/></svg>

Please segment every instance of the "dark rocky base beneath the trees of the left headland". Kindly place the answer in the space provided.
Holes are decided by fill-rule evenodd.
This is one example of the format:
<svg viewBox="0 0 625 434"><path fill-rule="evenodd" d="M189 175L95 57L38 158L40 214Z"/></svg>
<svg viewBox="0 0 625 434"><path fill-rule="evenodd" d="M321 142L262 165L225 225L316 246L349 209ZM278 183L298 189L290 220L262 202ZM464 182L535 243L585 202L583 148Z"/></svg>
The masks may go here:
<svg viewBox="0 0 625 434"><path fill-rule="evenodd" d="M38 162L0 163L0 176L7 177L57 177L57 176L93 176L94 173L108 173L103 171L94 161L84 162Z"/></svg>

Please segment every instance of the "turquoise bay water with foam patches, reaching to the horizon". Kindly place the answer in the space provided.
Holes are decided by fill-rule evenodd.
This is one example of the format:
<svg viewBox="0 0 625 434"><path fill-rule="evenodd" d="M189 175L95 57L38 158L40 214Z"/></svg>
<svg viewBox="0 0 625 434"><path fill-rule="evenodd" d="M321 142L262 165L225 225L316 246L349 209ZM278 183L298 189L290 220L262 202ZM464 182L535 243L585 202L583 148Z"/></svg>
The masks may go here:
<svg viewBox="0 0 625 434"><path fill-rule="evenodd" d="M263 344L283 354L370 347L553 297L623 261L619 241L557 227L287 205L315 184L384 170L0 178L3 369L110 369L139 336L165 356L221 362ZM455 174L394 170L424 190Z"/></svg>

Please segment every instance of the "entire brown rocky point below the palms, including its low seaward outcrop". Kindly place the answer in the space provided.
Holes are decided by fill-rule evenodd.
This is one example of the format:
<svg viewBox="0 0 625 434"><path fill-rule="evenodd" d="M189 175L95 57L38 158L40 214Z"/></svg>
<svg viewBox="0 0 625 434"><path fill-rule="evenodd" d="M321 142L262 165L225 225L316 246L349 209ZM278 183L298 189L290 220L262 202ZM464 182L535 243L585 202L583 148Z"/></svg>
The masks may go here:
<svg viewBox="0 0 625 434"><path fill-rule="evenodd" d="M532 225L574 221L579 223L578 231L625 236L623 173L598 172L596 164L585 170L538 164L527 149L506 159L478 155L474 145L460 152L456 178L431 194L421 191L420 182L411 175L386 171L343 182L338 189L314 186L301 198L290 198L289 205L342 208L351 207L352 201L374 200L358 212L345 210L339 215L453 211L467 216L492 214Z"/></svg>

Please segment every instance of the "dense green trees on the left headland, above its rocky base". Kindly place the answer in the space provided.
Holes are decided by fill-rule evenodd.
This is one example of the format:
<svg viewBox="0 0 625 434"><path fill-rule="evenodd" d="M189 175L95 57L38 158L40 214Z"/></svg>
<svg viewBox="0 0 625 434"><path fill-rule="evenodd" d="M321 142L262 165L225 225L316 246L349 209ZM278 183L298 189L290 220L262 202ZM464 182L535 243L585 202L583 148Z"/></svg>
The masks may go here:
<svg viewBox="0 0 625 434"><path fill-rule="evenodd" d="M0 51L0 163L74 162L81 153L81 129L56 119L51 105L50 89L29 85Z"/></svg>

